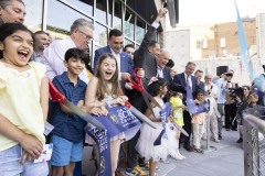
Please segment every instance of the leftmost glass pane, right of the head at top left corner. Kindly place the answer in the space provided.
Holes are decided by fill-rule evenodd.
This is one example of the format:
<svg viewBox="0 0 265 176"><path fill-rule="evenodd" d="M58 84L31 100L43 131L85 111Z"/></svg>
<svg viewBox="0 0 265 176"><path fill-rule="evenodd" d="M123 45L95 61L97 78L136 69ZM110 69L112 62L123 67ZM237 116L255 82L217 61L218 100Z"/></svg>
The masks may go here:
<svg viewBox="0 0 265 176"><path fill-rule="evenodd" d="M24 0L25 3L25 21L24 24L33 32L42 29L43 1Z"/></svg>

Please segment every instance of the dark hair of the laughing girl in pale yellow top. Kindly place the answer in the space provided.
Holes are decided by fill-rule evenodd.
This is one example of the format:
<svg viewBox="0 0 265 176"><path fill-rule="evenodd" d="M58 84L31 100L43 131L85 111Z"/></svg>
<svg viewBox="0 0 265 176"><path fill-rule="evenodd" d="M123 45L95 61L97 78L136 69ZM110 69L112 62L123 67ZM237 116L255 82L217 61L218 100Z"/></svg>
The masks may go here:
<svg viewBox="0 0 265 176"><path fill-rule="evenodd" d="M0 43L2 43L8 36L12 35L17 31L24 31L31 34L32 40L33 33L21 23L4 23L0 26ZM3 52L0 51L0 59L3 57Z"/></svg>

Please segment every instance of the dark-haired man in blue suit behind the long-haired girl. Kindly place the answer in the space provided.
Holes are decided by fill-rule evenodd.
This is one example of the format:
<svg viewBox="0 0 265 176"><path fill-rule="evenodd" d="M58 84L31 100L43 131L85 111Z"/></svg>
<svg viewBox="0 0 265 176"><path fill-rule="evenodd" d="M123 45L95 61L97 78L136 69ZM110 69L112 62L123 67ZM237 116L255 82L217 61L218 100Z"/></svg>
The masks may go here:
<svg viewBox="0 0 265 176"><path fill-rule="evenodd" d="M108 34L108 46L100 47L95 51L94 68L96 67L98 58L104 53L112 53L117 58L118 69L121 79L127 80L128 76L130 76L129 74L132 73L132 63L130 55L123 51L123 46L124 46L123 32L116 29L112 30Z"/></svg>

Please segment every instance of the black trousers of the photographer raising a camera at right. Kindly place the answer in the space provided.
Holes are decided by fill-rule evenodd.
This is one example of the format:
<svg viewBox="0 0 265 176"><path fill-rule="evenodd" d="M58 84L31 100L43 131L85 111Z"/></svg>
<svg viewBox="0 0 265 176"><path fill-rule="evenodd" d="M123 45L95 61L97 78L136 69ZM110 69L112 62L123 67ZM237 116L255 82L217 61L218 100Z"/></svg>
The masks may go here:
<svg viewBox="0 0 265 176"><path fill-rule="evenodd" d="M224 113L225 113L225 129L237 129L237 122L234 120L236 116L236 103L224 105ZM233 123L232 123L233 122Z"/></svg>

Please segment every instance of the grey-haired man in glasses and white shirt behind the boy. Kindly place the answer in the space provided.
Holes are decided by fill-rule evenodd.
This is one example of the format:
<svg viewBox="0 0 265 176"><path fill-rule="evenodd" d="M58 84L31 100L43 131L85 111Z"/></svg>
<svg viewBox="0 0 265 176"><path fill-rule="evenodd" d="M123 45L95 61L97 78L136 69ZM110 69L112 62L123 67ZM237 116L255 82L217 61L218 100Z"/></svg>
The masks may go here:
<svg viewBox="0 0 265 176"><path fill-rule="evenodd" d="M64 54L68 48L78 47L88 51L88 44L93 40L94 26L85 19L77 19L71 25L71 35L68 38L53 41L43 52L41 62L46 65L46 75L53 79L56 75L66 72L64 66ZM84 69L80 78L88 82L87 73Z"/></svg>

